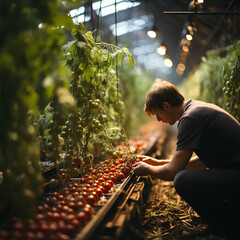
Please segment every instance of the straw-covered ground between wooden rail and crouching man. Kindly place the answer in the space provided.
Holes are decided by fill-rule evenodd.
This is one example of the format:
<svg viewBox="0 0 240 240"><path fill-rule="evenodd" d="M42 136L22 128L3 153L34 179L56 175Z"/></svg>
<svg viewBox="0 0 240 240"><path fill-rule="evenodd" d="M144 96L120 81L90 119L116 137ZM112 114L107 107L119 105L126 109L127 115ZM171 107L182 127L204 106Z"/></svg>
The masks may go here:
<svg viewBox="0 0 240 240"><path fill-rule="evenodd" d="M198 214L176 193L173 183L153 179L139 231L145 239L223 240L207 232Z"/></svg>

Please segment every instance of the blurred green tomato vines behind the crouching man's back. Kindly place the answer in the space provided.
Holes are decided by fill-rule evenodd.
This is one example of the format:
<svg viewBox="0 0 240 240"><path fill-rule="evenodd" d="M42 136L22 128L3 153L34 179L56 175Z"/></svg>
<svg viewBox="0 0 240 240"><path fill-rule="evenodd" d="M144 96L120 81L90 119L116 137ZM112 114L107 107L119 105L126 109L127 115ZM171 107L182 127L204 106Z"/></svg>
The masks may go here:
<svg viewBox="0 0 240 240"><path fill-rule="evenodd" d="M179 89L185 98L215 103L240 120L240 41L210 50L183 81Z"/></svg>

